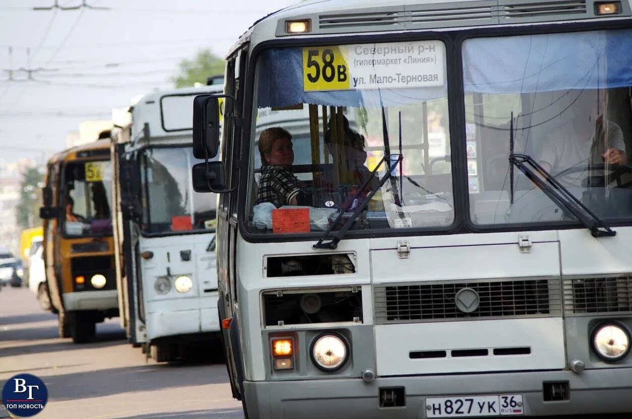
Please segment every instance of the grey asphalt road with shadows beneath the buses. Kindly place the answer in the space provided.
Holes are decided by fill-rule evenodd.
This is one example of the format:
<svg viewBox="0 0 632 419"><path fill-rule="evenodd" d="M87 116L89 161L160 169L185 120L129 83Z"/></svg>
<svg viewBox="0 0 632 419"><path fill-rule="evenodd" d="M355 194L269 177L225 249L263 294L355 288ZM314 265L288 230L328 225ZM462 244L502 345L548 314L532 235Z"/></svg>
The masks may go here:
<svg viewBox="0 0 632 419"><path fill-rule="evenodd" d="M155 363L132 348L118 319L97 325L95 341L60 339L57 316L27 288L0 291L0 388L18 373L44 380L42 419L243 418L223 363ZM0 405L0 418L3 415Z"/></svg>

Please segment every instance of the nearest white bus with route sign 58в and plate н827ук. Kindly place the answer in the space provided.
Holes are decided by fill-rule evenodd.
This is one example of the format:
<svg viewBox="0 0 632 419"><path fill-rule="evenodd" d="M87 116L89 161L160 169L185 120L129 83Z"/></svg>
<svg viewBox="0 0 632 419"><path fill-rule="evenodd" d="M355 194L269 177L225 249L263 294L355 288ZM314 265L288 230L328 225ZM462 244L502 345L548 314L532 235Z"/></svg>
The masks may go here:
<svg viewBox="0 0 632 419"><path fill-rule="evenodd" d="M240 38L221 161L193 182L221 193L219 313L250 419L632 411L631 16L311 1ZM218 100L195 99L197 157L216 155ZM300 109L309 148L286 118L259 128Z"/></svg>

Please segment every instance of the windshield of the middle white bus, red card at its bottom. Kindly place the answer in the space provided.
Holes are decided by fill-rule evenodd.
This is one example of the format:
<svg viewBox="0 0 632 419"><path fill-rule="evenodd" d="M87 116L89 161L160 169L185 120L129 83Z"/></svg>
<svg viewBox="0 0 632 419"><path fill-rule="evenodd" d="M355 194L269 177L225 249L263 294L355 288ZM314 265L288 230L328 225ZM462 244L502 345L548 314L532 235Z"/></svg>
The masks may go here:
<svg viewBox="0 0 632 419"><path fill-rule="evenodd" d="M155 147L140 156L142 230L145 233L214 231L215 195L193 191L191 169L200 161L191 147Z"/></svg>

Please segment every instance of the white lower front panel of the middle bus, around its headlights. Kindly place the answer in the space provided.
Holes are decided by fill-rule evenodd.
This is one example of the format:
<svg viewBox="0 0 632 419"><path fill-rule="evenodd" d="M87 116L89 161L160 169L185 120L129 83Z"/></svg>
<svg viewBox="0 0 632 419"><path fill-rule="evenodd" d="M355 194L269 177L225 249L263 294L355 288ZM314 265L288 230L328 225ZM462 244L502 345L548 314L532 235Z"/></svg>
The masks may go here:
<svg viewBox="0 0 632 419"><path fill-rule="evenodd" d="M214 250L207 251L214 236L215 233L202 233L139 238L140 252L154 253L148 260L140 259L148 341L157 337L219 331L216 255ZM191 260L182 260L180 252L188 251ZM157 277L167 275L167 266L172 277L191 277L193 288L178 293L172 286L166 295L159 295L154 283Z"/></svg>

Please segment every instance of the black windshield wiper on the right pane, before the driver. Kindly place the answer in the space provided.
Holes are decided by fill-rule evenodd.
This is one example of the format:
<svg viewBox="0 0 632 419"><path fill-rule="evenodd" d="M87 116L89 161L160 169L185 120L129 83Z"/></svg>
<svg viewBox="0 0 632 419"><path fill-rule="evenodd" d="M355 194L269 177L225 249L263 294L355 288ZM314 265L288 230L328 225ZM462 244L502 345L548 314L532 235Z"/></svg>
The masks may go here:
<svg viewBox="0 0 632 419"><path fill-rule="evenodd" d="M538 188L540 188L553 202L569 216L575 216L583 224L593 237L614 236L612 230L605 222L597 217L586 205L576 198L564 185L551 176L544 167L533 160L528 154L510 154L509 162L518 167ZM538 173L540 176L538 176Z"/></svg>

